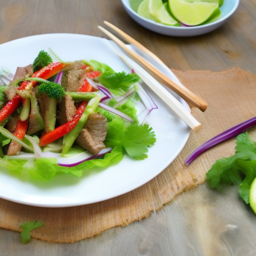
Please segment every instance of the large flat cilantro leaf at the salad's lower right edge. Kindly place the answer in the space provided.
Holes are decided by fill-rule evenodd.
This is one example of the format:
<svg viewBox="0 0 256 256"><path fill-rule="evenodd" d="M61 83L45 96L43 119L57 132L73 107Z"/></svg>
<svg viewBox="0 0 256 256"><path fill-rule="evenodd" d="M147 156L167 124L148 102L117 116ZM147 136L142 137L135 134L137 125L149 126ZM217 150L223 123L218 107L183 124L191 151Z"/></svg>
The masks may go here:
<svg viewBox="0 0 256 256"><path fill-rule="evenodd" d="M130 157L137 160L146 158L148 147L156 141L148 124L132 123L126 126L122 119L114 118L108 126L106 146L122 146Z"/></svg>

